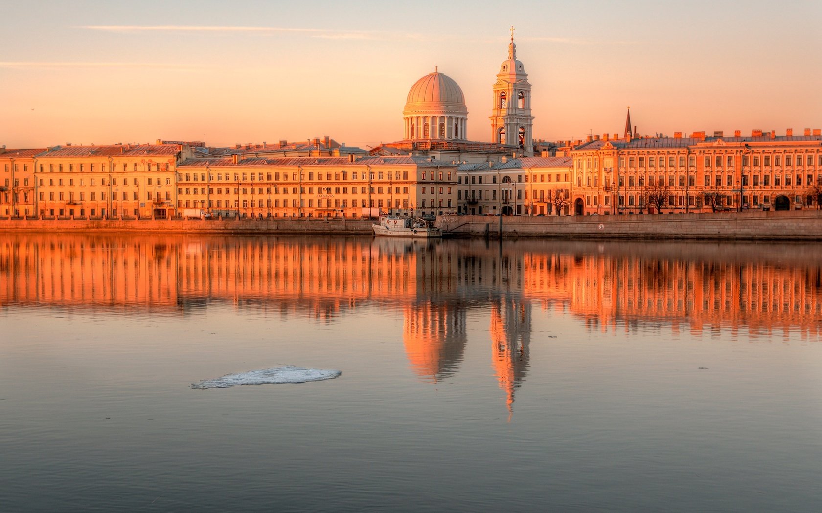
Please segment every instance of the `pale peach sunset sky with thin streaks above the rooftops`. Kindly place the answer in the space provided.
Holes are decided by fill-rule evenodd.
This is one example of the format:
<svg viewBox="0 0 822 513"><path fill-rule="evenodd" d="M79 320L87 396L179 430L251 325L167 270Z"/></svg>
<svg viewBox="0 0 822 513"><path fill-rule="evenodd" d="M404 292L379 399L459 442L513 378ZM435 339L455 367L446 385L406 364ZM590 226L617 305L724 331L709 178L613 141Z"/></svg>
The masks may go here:
<svg viewBox="0 0 822 513"><path fill-rule="evenodd" d="M3 0L0 144L403 137L416 80L463 89L491 140L510 27L533 135L822 128L822 0Z"/></svg>

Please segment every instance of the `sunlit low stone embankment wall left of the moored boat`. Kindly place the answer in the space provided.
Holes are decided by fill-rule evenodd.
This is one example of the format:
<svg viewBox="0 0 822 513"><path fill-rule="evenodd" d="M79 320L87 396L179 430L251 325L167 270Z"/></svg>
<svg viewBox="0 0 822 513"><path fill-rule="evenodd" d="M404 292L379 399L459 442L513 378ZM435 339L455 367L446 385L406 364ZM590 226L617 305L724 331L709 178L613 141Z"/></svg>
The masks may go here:
<svg viewBox="0 0 822 513"><path fill-rule="evenodd" d="M0 231L371 235L371 219L0 219Z"/></svg>

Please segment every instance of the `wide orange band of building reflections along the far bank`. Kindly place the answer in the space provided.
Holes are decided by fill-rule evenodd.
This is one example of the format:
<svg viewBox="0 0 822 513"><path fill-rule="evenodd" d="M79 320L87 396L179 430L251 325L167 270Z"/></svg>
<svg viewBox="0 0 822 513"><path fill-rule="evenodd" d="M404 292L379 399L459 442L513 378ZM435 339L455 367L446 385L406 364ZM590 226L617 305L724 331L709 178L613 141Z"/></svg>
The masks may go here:
<svg viewBox="0 0 822 513"><path fill-rule="evenodd" d="M423 244L372 238L7 234L0 304L187 311L223 300L315 318L363 302L459 301L501 293L584 318L819 333L815 245Z"/></svg>

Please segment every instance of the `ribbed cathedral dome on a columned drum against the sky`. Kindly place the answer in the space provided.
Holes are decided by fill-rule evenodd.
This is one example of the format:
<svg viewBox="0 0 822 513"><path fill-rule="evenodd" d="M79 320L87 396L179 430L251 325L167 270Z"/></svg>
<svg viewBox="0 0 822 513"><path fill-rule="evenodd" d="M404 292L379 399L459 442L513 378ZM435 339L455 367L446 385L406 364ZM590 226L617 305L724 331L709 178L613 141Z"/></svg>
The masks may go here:
<svg viewBox="0 0 822 513"><path fill-rule="evenodd" d="M403 118L406 140L465 139L465 95L454 79L434 71L411 86Z"/></svg>

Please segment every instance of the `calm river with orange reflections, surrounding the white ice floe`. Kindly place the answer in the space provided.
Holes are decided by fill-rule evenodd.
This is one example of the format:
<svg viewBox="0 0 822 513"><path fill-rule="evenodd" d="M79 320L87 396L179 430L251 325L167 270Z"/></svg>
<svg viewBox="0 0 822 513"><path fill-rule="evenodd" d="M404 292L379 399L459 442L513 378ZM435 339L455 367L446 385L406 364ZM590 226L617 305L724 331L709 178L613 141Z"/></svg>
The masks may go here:
<svg viewBox="0 0 822 513"><path fill-rule="evenodd" d="M820 250L7 234L0 504L818 511Z"/></svg>

